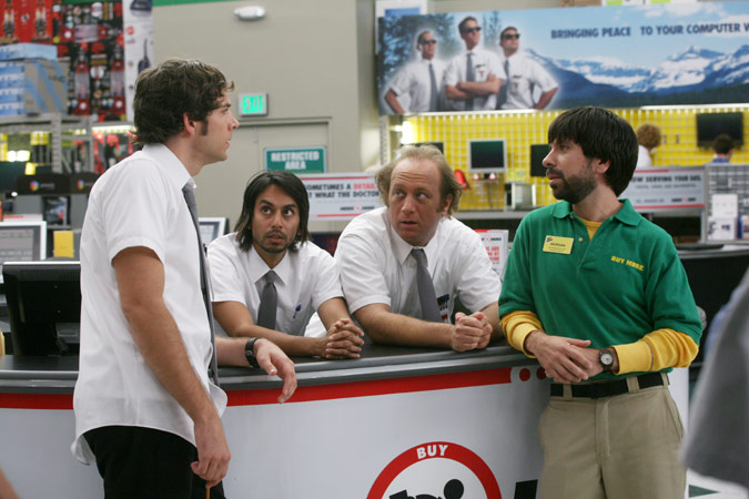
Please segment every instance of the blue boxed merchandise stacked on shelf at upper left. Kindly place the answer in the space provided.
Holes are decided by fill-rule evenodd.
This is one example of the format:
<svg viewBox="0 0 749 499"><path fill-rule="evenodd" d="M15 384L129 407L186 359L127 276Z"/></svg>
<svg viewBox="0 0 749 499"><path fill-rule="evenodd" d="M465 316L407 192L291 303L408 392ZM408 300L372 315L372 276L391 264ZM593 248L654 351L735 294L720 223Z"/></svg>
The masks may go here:
<svg viewBox="0 0 749 499"><path fill-rule="evenodd" d="M0 61L0 116L68 113L65 73L55 60Z"/></svg>

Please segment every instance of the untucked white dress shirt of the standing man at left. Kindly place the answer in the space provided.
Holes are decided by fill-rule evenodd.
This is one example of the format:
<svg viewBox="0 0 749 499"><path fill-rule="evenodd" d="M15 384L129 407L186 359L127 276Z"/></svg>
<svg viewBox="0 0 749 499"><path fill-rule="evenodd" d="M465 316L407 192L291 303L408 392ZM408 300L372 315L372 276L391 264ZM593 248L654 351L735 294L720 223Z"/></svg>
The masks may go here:
<svg viewBox="0 0 749 499"><path fill-rule="evenodd" d="M145 364L122 313L112 258L144 246L164 265L163 298L190 364L219 413L226 395L209 381L211 333L200 292L198 236L182 187L194 183L164 145L108 170L94 184L81 233L81 350L73 409L82 462L93 455L82 435L111 425L169 431L195 444L192 419Z"/></svg>

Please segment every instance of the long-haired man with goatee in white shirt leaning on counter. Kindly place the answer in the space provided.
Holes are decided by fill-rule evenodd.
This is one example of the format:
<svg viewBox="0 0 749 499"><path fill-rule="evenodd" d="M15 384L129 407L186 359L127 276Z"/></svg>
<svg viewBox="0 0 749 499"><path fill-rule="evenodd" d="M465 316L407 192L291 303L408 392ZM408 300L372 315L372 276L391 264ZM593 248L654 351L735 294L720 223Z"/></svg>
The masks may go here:
<svg viewBox="0 0 749 499"><path fill-rule="evenodd" d="M333 257L307 241L308 216L296 175L266 171L250 181L236 232L209 248L214 315L229 336L267 338L287 355L358 358L363 333L346 310ZM266 286L274 303L263 313ZM304 336L315 312L327 334Z"/></svg>

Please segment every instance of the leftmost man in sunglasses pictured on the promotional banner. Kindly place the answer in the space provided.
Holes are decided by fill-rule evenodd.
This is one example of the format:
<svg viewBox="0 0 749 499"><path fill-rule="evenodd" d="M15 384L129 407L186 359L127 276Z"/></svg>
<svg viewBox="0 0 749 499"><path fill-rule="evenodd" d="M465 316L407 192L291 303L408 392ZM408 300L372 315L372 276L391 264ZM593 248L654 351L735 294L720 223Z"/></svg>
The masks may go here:
<svg viewBox="0 0 749 499"><path fill-rule="evenodd" d="M437 39L434 33L418 33L416 49L417 60L401 69L385 92L385 102L398 114L439 111L445 65L435 59Z"/></svg>

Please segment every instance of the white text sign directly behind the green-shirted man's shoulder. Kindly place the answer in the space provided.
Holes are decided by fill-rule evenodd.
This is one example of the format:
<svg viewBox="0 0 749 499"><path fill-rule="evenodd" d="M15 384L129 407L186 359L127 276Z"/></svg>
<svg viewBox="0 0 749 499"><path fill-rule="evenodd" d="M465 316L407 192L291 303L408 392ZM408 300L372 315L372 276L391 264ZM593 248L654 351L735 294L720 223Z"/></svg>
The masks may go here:
<svg viewBox="0 0 749 499"><path fill-rule="evenodd" d="M705 206L705 167L637 170L620 197L636 210Z"/></svg>

